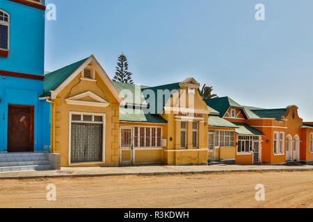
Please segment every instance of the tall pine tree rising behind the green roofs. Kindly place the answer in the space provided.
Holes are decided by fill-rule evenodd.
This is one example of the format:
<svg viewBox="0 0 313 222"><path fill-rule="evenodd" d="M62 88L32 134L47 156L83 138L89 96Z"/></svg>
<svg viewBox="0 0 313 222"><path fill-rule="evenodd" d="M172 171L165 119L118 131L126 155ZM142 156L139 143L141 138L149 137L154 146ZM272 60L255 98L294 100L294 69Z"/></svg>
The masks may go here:
<svg viewBox="0 0 313 222"><path fill-rule="evenodd" d="M113 77L113 82L134 84L131 79L132 73L128 71L127 57L124 53L118 57L118 66L115 68L116 72Z"/></svg>

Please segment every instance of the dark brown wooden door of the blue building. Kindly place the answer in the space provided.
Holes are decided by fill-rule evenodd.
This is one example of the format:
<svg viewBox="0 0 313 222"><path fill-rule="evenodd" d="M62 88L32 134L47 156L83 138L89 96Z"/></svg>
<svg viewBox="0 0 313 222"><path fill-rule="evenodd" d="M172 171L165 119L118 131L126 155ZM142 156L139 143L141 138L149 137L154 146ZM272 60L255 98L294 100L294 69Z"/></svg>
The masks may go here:
<svg viewBox="0 0 313 222"><path fill-rule="evenodd" d="M8 152L33 152L33 106L8 106Z"/></svg>

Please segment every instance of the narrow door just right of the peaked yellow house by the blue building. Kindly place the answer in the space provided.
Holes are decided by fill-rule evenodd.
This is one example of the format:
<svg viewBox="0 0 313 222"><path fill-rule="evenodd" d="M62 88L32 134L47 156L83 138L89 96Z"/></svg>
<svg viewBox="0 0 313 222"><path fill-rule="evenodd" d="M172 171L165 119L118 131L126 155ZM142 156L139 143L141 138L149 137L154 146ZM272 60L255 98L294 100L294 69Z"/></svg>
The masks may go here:
<svg viewBox="0 0 313 222"><path fill-rule="evenodd" d="M138 128L136 128L138 130ZM120 163L133 164L134 144L132 128L121 128L120 130Z"/></svg>

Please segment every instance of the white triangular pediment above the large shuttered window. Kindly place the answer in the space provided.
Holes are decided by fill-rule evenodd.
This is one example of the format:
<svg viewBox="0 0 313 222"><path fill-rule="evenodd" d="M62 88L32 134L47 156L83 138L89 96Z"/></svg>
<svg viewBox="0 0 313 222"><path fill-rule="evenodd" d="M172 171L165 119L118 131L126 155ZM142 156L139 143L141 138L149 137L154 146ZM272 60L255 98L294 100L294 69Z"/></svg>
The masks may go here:
<svg viewBox="0 0 313 222"><path fill-rule="evenodd" d="M110 105L110 103L90 91L65 99L65 102L69 105L87 105L104 108Z"/></svg>

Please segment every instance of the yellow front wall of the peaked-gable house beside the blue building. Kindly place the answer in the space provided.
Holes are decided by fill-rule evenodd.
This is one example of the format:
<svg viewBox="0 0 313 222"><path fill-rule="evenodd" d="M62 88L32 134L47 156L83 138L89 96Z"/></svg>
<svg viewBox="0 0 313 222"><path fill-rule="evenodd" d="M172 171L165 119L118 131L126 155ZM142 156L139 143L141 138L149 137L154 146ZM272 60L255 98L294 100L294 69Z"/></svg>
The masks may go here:
<svg viewBox="0 0 313 222"><path fill-rule="evenodd" d="M105 121L105 163L104 164L75 164L73 167L84 166L118 166L119 164L119 103L113 96L110 89L102 81L96 72L96 80L81 80L79 74L72 80L56 97L52 99L51 107L51 147L54 153L61 154L61 166L69 166L69 132L70 132L70 111L72 112L95 112L106 114ZM99 108L85 105L68 105L65 99L82 94L93 92L97 96L110 103L107 108ZM54 130L55 118L55 130ZM54 137L55 132L55 137Z"/></svg>

